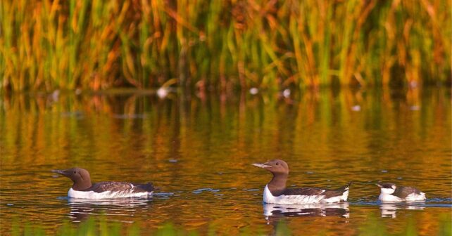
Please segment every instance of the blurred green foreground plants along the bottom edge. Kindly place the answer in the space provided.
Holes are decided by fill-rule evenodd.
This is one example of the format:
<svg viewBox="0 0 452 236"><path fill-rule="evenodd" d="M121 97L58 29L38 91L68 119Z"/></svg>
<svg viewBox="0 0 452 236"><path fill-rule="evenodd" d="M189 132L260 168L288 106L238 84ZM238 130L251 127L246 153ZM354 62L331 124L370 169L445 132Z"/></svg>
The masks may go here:
<svg viewBox="0 0 452 236"><path fill-rule="evenodd" d="M298 233L291 232L287 221L278 221L272 225L272 235L296 235ZM431 229L430 229L431 230ZM439 216L439 224L437 225L437 235L451 235L452 225L450 216ZM363 223L360 224L359 229L356 230L358 235L422 235L422 229L416 224L413 218L407 218L405 223L396 232L388 230L384 218L377 218L369 215ZM17 219L11 225L11 235L200 235L199 230L186 229L183 226L174 225L172 223L165 223L154 229L149 229L140 226L139 222L135 223L119 223L108 222L104 216L98 218L90 217L81 223L70 223L65 221L60 226L54 228L54 232L44 230L39 225L30 223L18 223ZM208 227L208 231L201 235L223 235L222 231L215 230L213 227ZM249 228L245 227L240 230L240 235L267 235L263 228ZM327 231L318 232L318 235L325 235Z"/></svg>

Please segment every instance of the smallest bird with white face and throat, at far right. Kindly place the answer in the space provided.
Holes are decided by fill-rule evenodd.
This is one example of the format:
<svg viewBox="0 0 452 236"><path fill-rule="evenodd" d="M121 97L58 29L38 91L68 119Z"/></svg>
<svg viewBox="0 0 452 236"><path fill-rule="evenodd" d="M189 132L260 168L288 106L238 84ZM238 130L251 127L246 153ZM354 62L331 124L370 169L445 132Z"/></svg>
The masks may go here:
<svg viewBox="0 0 452 236"><path fill-rule="evenodd" d="M425 193L417 188L396 186L394 183L377 183L381 189L378 199L381 202L419 202L425 201Z"/></svg>

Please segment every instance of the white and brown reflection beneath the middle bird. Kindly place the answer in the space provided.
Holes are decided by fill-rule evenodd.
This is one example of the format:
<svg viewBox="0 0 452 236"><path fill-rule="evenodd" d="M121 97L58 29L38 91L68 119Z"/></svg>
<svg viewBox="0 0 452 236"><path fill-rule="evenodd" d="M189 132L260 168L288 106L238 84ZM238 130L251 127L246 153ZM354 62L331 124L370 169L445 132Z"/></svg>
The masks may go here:
<svg viewBox="0 0 452 236"><path fill-rule="evenodd" d="M325 203L325 204L263 204L264 216L267 223L278 221L281 217L303 216L339 216L350 217L349 203Z"/></svg>

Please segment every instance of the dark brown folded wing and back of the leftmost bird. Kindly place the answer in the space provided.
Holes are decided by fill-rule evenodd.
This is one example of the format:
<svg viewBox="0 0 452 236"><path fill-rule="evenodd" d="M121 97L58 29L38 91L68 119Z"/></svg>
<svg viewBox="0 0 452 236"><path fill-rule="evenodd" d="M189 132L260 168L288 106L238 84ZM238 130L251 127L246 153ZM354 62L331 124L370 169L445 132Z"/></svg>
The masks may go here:
<svg viewBox="0 0 452 236"><path fill-rule="evenodd" d="M91 188L85 191L94 192L117 192L117 191L127 191L127 192L152 192L152 183L140 184L140 183L127 183L127 182L99 182L94 183Z"/></svg>

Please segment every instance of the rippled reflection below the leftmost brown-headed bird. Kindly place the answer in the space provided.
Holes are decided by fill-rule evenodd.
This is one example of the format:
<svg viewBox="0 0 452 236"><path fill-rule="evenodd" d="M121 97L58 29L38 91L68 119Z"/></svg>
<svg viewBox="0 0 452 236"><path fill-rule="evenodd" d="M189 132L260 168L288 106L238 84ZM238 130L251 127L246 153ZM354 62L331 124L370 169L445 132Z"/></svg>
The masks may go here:
<svg viewBox="0 0 452 236"><path fill-rule="evenodd" d="M150 203L151 200L147 197L116 199L78 199L69 197L69 218L73 222L81 222L90 215L133 216L137 209L141 211L150 209Z"/></svg>

